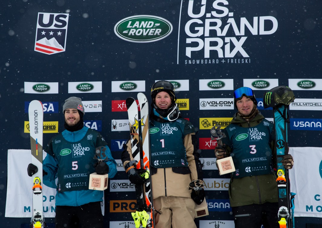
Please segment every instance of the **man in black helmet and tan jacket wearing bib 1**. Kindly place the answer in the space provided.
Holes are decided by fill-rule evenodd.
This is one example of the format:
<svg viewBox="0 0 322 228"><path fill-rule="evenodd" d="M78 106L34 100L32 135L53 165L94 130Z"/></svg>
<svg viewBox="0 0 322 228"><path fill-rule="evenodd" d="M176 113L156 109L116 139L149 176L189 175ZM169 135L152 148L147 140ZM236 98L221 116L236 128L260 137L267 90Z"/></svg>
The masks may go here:
<svg viewBox="0 0 322 228"><path fill-rule="evenodd" d="M180 116L175 89L169 81L157 81L151 89L150 150L156 228L195 228L195 203L204 200L204 189L189 190L202 181L196 129ZM153 130L152 130L153 129ZM122 153L127 166L133 160L130 142ZM133 169L133 168L132 168ZM134 183L135 184L135 183Z"/></svg>

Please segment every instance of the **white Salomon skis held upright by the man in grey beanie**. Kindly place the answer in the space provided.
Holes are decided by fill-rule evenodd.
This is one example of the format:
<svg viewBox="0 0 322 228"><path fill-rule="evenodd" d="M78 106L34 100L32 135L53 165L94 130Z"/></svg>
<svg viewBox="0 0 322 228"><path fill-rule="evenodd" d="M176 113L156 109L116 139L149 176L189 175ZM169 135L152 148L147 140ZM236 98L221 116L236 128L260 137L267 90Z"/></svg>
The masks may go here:
<svg viewBox="0 0 322 228"><path fill-rule="evenodd" d="M43 104L33 100L29 104L29 129L31 144L31 163L38 167L32 176L33 211L30 226L46 226L43 216Z"/></svg>

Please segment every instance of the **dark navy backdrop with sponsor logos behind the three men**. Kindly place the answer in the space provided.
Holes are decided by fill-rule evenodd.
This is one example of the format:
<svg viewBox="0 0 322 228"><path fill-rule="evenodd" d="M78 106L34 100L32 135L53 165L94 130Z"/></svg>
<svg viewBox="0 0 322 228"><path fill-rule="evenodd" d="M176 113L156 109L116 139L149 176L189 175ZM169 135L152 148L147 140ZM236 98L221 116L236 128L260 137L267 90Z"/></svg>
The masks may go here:
<svg viewBox="0 0 322 228"><path fill-rule="evenodd" d="M206 198L212 210L195 220L197 227L232 227L226 204L230 175L220 176L215 167L216 141L210 140L210 129L228 126L236 112L233 91L242 86L254 90L260 112L273 121L272 109L263 107L263 94L285 85L297 98L290 105L289 146L321 147L321 9L320 0L3 4L0 198L8 201L7 193L12 193L8 149L30 149L30 101L43 102L46 145L64 130L64 100L76 96L83 101L84 125L104 136L118 163L119 172L105 190L104 227L132 227L129 212L135 207L135 194L120 160L129 138L125 101L143 92L151 102L152 84L167 80L175 87L182 117L198 129ZM26 167L27 163L15 176L21 185L28 178ZM313 213L310 222L322 223L318 204L312 206L315 211L301 216ZM5 215L14 216L14 211L6 214L5 206L0 206L1 223L20 227L30 222ZM305 222L298 217L295 225L305 227Z"/></svg>

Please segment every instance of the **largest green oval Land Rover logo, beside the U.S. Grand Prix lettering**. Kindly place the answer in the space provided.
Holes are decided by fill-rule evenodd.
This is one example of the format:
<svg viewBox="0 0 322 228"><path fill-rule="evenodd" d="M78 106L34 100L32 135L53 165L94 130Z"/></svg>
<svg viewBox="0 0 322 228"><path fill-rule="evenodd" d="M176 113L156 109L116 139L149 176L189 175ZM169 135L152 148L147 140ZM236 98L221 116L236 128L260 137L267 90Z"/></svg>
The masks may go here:
<svg viewBox="0 0 322 228"><path fill-rule="evenodd" d="M148 43L161 40L172 32L172 24L162 17L136 15L120 20L114 26L114 33L121 39Z"/></svg>

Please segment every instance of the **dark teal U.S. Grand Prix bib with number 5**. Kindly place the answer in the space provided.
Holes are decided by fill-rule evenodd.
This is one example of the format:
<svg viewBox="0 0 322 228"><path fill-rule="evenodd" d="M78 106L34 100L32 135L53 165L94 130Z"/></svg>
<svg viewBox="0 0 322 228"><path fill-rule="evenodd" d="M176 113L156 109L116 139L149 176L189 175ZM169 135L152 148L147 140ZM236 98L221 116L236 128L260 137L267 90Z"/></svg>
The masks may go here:
<svg viewBox="0 0 322 228"><path fill-rule="evenodd" d="M95 172L93 159L98 132L89 129L78 142L68 142L62 134L52 139L52 148L58 160L57 191L85 190L89 186L90 174Z"/></svg>

